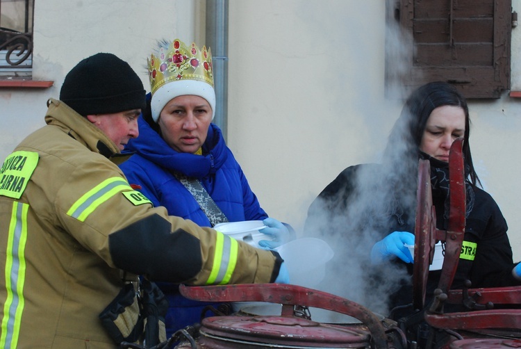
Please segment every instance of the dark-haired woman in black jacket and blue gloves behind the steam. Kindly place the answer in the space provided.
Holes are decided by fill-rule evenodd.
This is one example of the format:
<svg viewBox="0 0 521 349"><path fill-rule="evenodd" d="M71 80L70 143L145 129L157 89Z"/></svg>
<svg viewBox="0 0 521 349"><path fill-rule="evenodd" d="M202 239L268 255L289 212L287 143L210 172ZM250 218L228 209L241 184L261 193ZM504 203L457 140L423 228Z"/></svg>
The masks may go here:
<svg viewBox="0 0 521 349"><path fill-rule="evenodd" d="M372 276L364 295L376 293L383 298L392 294L391 307L412 301L413 258L404 244L414 244L418 159L430 162L436 225L446 230L448 155L456 138L464 138L467 211L463 245L472 248L461 254L452 289L461 289L467 279L472 287L521 284L512 275L515 263L506 220L495 200L479 188L470 154L467 102L449 83L433 82L408 97L390 133L382 163L346 168L308 210L306 234L336 239L330 245L347 248L346 258L348 254L356 256L358 266L351 263L348 268L360 267L363 274ZM341 261L335 273L345 273L347 263ZM438 284L439 275L439 270L429 273L428 292ZM399 285L384 289L383 282L389 279L399 279Z"/></svg>

